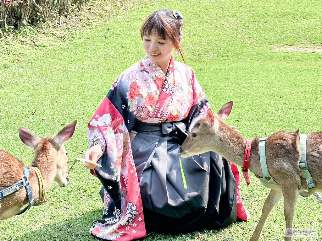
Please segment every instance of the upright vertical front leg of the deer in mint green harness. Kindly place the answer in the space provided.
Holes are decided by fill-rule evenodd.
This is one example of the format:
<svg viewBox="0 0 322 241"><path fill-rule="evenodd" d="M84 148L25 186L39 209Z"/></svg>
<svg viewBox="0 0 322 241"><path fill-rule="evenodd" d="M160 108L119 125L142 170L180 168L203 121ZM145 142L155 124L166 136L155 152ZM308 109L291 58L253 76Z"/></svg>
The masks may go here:
<svg viewBox="0 0 322 241"><path fill-rule="evenodd" d="M293 217L295 212L296 202L298 201L298 190L290 192L290 190L283 190L284 195L284 217L286 221L286 228L293 227ZM285 241L291 241L292 237L285 237Z"/></svg>

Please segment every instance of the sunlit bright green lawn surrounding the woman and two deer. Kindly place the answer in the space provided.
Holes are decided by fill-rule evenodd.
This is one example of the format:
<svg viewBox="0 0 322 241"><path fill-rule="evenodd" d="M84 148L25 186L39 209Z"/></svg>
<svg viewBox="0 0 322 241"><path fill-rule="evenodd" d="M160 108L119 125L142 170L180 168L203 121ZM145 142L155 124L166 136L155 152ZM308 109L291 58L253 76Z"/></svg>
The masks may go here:
<svg viewBox="0 0 322 241"><path fill-rule="evenodd" d="M61 45L39 40L34 49L0 41L0 147L29 165L33 151L19 139L18 126L43 137L78 119L76 132L66 143L69 165L81 157L87 149L87 122L110 85L145 55L139 36L142 19L164 7L183 13L182 45L188 64L213 110L234 101L227 123L237 126L244 137L263 137L281 129L322 130L322 54L272 51L284 45L322 45L319 1L162 0L112 16L91 29L66 32ZM93 240L89 227L103 209L100 183L81 163L71 175L85 183L80 192L68 194L54 183L47 203L0 222L0 240ZM248 222L182 236L150 234L143 240L248 240L269 190L252 174L249 186L241 182L251 214ZM284 237L283 213L281 201L260 240ZM313 197L300 197L293 227L316 228L317 240L322 240L321 204Z"/></svg>

